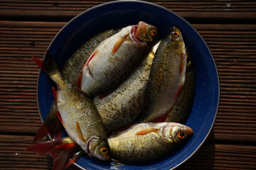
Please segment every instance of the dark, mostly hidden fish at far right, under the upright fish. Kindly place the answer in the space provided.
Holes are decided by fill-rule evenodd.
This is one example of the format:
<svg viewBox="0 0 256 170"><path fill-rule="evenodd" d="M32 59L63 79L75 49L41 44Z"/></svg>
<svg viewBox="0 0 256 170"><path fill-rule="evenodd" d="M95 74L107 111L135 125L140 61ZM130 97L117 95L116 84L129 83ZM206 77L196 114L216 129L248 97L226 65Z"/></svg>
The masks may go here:
<svg viewBox="0 0 256 170"><path fill-rule="evenodd" d="M191 113L195 97L196 74L190 57L188 57L187 63L185 83L180 94L178 94L174 106L171 107L166 122L185 124L189 113Z"/></svg>

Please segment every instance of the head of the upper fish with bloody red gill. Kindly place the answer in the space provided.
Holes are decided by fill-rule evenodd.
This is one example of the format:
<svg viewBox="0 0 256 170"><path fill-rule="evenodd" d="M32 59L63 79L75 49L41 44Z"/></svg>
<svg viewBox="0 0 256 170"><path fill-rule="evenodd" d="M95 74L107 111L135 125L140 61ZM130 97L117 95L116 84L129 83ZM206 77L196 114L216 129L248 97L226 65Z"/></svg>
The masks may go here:
<svg viewBox="0 0 256 170"><path fill-rule="evenodd" d="M133 26L131 33L135 42L150 43L156 39L156 36L158 35L158 29L156 26L152 26L148 23L144 23L143 21L139 21L137 26Z"/></svg>

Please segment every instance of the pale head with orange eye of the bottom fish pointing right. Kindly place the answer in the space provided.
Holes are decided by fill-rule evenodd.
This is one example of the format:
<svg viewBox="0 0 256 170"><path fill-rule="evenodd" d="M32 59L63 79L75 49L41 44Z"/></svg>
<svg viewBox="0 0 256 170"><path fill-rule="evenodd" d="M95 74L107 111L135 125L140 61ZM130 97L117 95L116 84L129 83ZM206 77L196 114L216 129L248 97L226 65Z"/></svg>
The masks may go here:
<svg viewBox="0 0 256 170"><path fill-rule="evenodd" d="M164 130L164 137L169 142L182 142L193 135L193 130L180 123L169 123Z"/></svg>

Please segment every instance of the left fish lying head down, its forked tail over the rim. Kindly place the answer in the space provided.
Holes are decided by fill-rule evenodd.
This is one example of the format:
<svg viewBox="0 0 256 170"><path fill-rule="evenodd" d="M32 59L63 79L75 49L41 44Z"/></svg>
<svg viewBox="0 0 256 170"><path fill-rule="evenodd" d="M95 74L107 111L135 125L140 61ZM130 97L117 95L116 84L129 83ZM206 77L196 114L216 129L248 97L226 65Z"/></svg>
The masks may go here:
<svg viewBox="0 0 256 170"><path fill-rule="evenodd" d="M46 61L33 60L52 79L58 91L53 88L53 96L58 106L56 112L68 136L90 157L110 160L107 133L99 113L92 100L82 94L60 74L50 52L46 52Z"/></svg>

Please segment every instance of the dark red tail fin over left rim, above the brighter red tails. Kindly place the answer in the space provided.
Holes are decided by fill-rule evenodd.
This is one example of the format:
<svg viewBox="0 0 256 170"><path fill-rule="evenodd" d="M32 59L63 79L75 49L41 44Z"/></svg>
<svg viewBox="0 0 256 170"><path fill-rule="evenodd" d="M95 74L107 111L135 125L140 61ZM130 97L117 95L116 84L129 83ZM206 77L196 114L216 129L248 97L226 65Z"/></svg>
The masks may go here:
<svg viewBox="0 0 256 170"><path fill-rule="evenodd" d="M60 126L60 120L58 120L58 116L56 115L57 104L53 101L53 105L50 108L50 111L44 120L43 124L39 128L36 136L33 139L33 142L37 142L41 140L46 135L51 135L51 137L55 137L58 134L58 126Z"/></svg>

